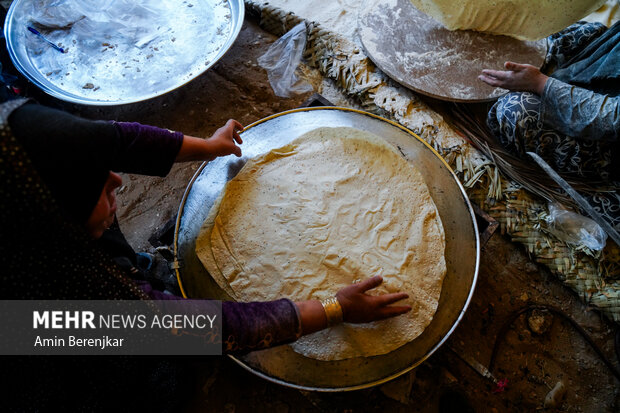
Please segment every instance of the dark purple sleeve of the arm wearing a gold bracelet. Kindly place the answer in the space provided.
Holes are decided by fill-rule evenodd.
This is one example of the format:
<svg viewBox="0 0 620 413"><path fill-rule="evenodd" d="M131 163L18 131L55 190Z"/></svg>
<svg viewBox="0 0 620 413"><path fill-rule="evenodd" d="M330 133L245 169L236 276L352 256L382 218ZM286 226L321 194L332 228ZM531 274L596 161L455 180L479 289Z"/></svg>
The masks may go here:
<svg viewBox="0 0 620 413"><path fill-rule="evenodd" d="M184 300L154 290L146 281L136 281L153 300ZM301 337L301 319L295 303L276 301L222 303L224 353L243 353L293 342Z"/></svg>

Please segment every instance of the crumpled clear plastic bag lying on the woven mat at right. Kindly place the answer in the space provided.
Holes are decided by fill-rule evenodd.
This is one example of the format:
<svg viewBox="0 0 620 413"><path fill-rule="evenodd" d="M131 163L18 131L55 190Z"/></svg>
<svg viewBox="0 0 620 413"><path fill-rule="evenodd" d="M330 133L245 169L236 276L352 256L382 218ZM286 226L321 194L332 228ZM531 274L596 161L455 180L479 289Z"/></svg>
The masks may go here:
<svg viewBox="0 0 620 413"><path fill-rule="evenodd" d="M560 204L550 202L549 215L545 218L547 230L561 241L585 245L593 251L605 248L607 233L594 220L564 209Z"/></svg>

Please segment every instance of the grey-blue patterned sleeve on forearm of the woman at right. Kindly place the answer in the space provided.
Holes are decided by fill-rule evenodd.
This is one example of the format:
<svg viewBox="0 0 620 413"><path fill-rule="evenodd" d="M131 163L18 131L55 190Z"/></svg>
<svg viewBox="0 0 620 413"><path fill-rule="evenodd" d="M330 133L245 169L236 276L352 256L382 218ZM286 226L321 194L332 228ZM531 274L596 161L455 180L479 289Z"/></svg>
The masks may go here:
<svg viewBox="0 0 620 413"><path fill-rule="evenodd" d="M542 95L541 121L573 138L618 141L620 97L549 78Z"/></svg>

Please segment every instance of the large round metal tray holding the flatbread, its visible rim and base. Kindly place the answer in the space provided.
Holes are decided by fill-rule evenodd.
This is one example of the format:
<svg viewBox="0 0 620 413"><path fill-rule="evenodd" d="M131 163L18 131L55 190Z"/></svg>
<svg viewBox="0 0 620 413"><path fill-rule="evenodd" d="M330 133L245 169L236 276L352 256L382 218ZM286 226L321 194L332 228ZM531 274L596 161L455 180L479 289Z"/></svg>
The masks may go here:
<svg viewBox="0 0 620 413"><path fill-rule="evenodd" d="M469 304L478 277L480 243L475 216L463 187L437 152L397 123L353 109L297 109L248 126L242 134L243 153L253 157L283 146L315 128L340 126L384 138L422 173L444 226L447 273L431 324L417 339L391 353L325 362L306 358L289 346L280 346L233 357L241 366L267 380L304 390L361 389L413 369L454 331ZM177 277L186 297L227 298L197 258L195 241L213 202L241 164L232 156L205 163L187 186L179 208L174 245Z"/></svg>

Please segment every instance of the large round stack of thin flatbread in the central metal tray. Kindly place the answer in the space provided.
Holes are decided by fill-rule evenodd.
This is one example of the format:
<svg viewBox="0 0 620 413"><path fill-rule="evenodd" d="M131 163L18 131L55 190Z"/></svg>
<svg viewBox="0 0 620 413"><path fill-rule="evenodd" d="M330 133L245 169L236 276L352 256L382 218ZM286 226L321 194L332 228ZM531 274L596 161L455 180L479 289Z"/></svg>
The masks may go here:
<svg viewBox="0 0 620 413"><path fill-rule="evenodd" d="M325 299L384 278L413 308L302 337L319 360L385 354L415 339L437 309L446 272L437 208L420 175L383 139L320 128L251 159L224 188L197 240L209 273L240 301Z"/></svg>

